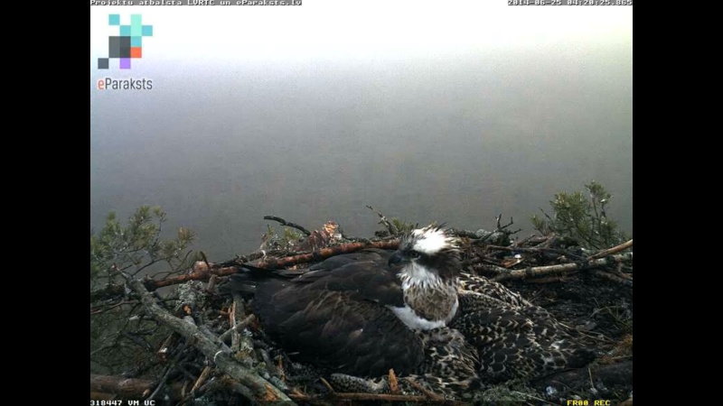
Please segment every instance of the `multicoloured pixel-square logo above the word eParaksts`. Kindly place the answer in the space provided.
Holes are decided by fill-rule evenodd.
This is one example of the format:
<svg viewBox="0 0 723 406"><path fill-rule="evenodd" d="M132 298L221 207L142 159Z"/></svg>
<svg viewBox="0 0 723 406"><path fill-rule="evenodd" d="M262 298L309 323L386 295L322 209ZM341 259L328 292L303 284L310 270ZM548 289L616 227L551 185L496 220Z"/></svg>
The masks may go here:
<svg viewBox="0 0 723 406"><path fill-rule="evenodd" d="M108 37L108 58L98 59L98 69L109 69L110 60L119 60L120 69L130 69L131 60L143 56L143 37L153 36L153 25L143 25L141 14L131 14L130 25L121 25L120 14L109 14L108 25L117 26L119 35Z"/></svg>

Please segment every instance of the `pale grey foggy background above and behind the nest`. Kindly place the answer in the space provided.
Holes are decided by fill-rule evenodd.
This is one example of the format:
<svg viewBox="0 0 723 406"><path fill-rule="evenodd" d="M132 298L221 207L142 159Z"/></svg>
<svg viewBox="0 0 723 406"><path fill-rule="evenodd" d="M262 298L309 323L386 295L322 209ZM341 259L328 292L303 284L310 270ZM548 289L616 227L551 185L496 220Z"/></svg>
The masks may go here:
<svg viewBox="0 0 723 406"><path fill-rule="evenodd" d="M340 3L91 7L91 229L160 205L221 261L265 215L371 236L368 204L471 230L502 213L524 237L596 180L632 233L632 7ZM154 25L132 69L96 69L108 14Z"/></svg>

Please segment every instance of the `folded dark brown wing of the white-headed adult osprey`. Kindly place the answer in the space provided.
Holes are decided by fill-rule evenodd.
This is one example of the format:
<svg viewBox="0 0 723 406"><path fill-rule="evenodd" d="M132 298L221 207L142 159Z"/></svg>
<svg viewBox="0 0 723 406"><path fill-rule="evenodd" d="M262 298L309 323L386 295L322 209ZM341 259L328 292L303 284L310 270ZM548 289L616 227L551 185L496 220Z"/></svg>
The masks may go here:
<svg viewBox="0 0 723 406"><path fill-rule="evenodd" d="M389 309L356 291L259 286L254 312L287 352L344 374L409 374L421 341ZM279 289L280 288L280 289Z"/></svg>

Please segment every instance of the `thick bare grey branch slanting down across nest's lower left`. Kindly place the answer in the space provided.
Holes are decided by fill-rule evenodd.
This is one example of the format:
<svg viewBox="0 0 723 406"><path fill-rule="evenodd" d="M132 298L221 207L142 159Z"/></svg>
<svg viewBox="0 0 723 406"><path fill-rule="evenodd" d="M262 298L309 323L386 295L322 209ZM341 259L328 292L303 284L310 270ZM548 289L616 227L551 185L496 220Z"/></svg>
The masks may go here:
<svg viewBox="0 0 723 406"><path fill-rule="evenodd" d="M212 339L209 335L203 334L201 329L191 323L172 316L168 311L158 306L153 295L146 291L146 288L141 281L138 281L125 273L123 276L126 278L131 289L136 291L136 293L141 297L143 304L146 306L146 310L153 318L161 323L164 323L169 328L172 328L176 333L192 342L193 345L203 353L203 355L206 355L209 360L216 364L219 370L248 387L258 399L264 401L286 401L288 403L292 403L284 392L279 391L274 385L268 383L267 380L258 376L258 374L255 374L248 368L241 366L238 362L231 358L230 348L225 346L218 337L212 337Z"/></svg>

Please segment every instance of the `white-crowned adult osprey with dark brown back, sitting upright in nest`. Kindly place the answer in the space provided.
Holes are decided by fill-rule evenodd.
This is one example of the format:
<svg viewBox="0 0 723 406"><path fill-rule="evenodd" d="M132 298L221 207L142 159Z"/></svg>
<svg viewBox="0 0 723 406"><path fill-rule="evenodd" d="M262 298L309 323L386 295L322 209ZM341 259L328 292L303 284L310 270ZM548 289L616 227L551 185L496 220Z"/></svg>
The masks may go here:
<svg viewBox="0 0 723 406"><path fill-rule="evenodd" d="M258 282L252 304L270 337L297 358L334 372L414 374L458 308L460 253L440 226L404 235L396 252L333 256L294 279ZM269 273L269 272L267 272ZM247 290L249 275L226 290ZM430 337L433 337L430 339ZM444 352L444 351L443 351Z"/></svg>

